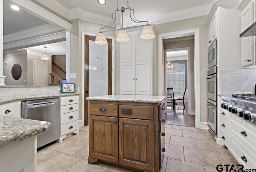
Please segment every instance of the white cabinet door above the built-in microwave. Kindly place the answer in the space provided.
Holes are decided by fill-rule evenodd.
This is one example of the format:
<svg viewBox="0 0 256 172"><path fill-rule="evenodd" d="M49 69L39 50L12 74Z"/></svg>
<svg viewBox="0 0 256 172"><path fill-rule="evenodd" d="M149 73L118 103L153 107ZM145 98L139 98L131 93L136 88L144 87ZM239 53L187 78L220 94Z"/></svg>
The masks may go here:
<svg viewBox="0 0 256 172"><path fill-rule="evenodd" d="M212 42L217 38L217 14L218 11L215 12L214 16L212 17L212 20L210 21L210 24L208 25L208 46L212 44Z"/></svg>

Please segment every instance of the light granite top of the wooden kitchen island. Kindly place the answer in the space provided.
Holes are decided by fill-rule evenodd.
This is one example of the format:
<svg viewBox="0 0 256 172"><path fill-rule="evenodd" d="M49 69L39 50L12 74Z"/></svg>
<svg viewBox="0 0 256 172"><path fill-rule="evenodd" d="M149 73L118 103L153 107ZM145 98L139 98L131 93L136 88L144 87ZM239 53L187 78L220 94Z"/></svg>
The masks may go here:
<svg viewBox="0 0 256 172"><path fill-rule="evenodd" d="M138 102L138 103L161 103L165 96L143 95L106 95L87 97L86 100L112 101L112 102Z"/></svg>

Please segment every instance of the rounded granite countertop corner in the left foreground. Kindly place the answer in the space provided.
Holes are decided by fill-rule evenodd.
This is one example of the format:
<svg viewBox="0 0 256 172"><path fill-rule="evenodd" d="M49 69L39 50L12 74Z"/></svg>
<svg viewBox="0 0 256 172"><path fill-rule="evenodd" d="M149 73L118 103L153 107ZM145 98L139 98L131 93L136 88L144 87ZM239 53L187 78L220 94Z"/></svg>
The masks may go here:
<svg viewBox="0 0 256 172"><path fill-rule="evenodd" d="M0 115L0 148L42 134L50 126L46 121Z"/></svg>

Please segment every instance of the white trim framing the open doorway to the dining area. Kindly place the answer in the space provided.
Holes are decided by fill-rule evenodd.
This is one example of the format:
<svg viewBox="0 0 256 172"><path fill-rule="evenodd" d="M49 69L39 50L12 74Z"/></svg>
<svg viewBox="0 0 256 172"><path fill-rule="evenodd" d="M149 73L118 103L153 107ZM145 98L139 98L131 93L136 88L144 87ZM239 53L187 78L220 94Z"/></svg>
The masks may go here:
<svg viewBox="0 0 256 172"><path fill-rule="evenodd" d="M194 35L194 70L195 70L195 126L200 128L200 29L188 29L180 30L176 32L168 32L163 34L158 34L158 96L162 96L164 89L164 66L163 66L163 39L176 38L180 36Z"/></svg>

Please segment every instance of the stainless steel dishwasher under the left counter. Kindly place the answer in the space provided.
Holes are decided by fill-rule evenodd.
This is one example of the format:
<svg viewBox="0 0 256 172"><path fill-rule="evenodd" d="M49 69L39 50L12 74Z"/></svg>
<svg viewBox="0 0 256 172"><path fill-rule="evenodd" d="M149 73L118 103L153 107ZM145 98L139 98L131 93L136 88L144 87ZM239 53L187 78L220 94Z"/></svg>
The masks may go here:
<svg viewBox="0 0 256 172"><path fill-rule="evenodd" d="M51 123L48 131L37 136L37 148L60 138L60 98L22 101L22 118Z"/></svg>

